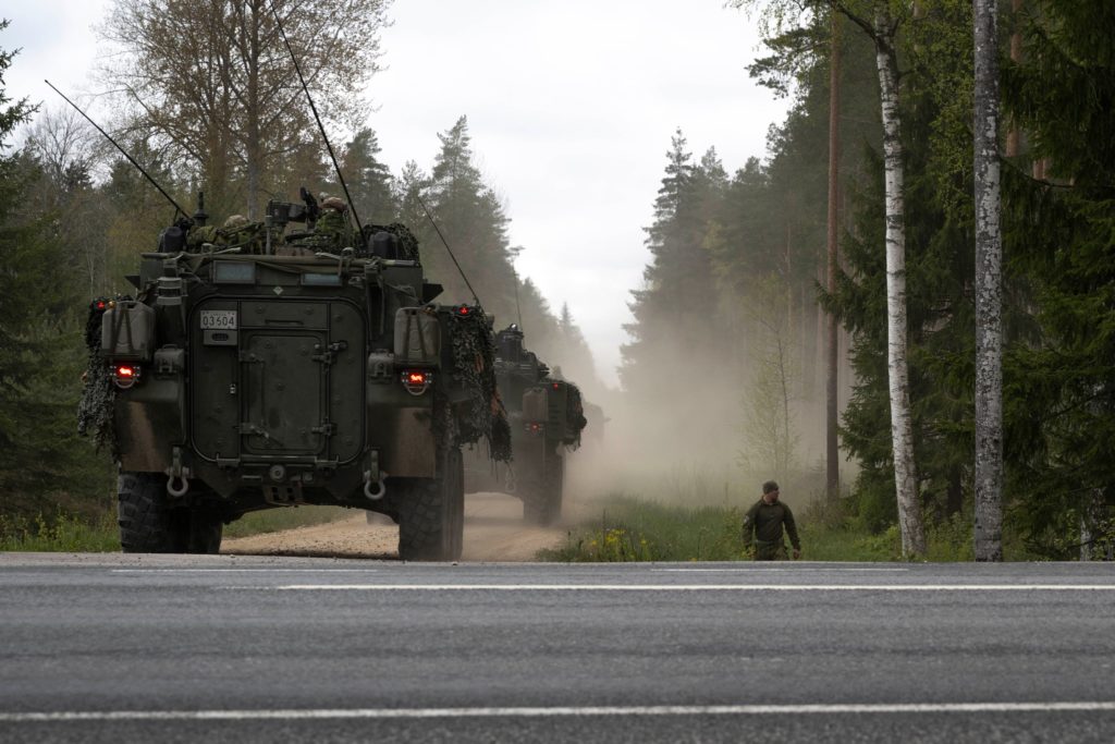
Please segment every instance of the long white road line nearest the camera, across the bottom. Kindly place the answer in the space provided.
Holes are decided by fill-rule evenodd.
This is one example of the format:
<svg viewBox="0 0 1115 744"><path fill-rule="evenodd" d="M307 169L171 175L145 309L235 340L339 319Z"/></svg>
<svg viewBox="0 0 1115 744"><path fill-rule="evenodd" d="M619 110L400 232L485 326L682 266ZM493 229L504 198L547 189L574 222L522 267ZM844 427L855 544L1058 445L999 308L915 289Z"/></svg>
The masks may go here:
<svg viewBox="0 0 1115 744"><path fill-rule="evenodd" d="M841 715L895 713L1107 713L1113 702L646 705L488 708L310 708L262 711L58 711L0 713L0 723L71 721L297 721L318 718L534 718L579 716Z"/></svg>

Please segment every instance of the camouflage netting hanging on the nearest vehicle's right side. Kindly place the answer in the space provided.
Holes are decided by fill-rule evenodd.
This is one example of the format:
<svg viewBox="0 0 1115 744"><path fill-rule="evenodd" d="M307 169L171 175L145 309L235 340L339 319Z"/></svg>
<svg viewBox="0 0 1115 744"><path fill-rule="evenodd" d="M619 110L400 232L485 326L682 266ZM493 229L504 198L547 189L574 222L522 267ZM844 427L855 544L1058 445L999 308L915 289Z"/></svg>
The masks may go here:
<svg viewBox="0 0 1115 744"><path fill-rule="evenodd" d="M511 461L511 424L495 386L495 344L484 311L449 316L453 345L453 378L466 389L479 390L458 421L463 444L487 439L488 455L500 462Z"/></svg>

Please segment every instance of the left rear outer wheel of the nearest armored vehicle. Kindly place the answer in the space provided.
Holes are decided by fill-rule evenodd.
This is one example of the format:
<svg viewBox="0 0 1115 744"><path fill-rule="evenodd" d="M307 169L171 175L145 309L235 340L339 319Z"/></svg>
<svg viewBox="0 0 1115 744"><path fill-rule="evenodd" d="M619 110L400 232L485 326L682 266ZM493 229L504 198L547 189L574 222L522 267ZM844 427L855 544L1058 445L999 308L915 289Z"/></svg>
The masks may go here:
<svg viewBox="0 0 1115 744"><path fill-rule="evenodd" d="M166 476L120 473L117 479L117 523L126 553L184 552L188 523L167 504Z"/></svg>

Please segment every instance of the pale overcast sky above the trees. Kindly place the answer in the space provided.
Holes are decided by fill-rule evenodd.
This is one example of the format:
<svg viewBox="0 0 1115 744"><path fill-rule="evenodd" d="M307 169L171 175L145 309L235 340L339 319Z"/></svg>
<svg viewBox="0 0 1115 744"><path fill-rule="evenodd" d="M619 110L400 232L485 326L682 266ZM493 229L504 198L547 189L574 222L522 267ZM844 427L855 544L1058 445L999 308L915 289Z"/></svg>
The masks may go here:
<svg viewBox="0 0 1115 744"><path fill-rule="evenodd" d="M98 54L91 26L108 0L4 4L12 23L0 48L22 48L8 70L10 97L55 106L45 77L67 93L97 89L87 76ZM569 302L612 384L673 131L695 158L715 146L731 173L765 155L767 128L785 115L785 102L748 78L754 21L723 6L395 0L389 11L387 69L368 90L381 157L396 173L408 160L428 171L437 133L466 115L478 164L505 200L512 244L524 249L520 274L555 311Z"/></svg>

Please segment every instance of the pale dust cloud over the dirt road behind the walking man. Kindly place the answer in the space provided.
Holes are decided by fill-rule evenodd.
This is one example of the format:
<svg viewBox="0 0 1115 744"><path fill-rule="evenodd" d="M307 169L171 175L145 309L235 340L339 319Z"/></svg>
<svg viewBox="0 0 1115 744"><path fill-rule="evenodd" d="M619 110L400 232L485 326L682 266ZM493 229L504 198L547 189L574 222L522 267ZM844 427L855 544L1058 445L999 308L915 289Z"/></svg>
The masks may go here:
<svg viewBox="0 0 1115 744"><path fill-rule="evenodd" d="M623 370L627 389L586 392L601 413L597 421L589 415L582 445L568 457L568 500L590 509L613 494L744 506L767 480L778 481L794 506L824 493L820 332L739 325L735 337L746 345L733 338L694 342L697 330L681 320L662 335L668 344L634 349L641 356ZM845 365L840 379L850 378ZM849 395L845 381L841 407ZM846 487L854 472L843 458L841 467Z"/></svg>

